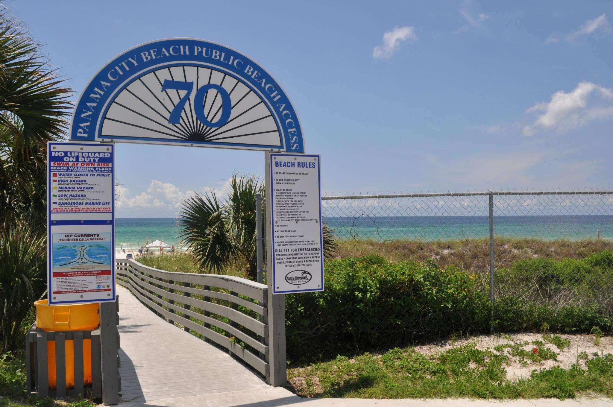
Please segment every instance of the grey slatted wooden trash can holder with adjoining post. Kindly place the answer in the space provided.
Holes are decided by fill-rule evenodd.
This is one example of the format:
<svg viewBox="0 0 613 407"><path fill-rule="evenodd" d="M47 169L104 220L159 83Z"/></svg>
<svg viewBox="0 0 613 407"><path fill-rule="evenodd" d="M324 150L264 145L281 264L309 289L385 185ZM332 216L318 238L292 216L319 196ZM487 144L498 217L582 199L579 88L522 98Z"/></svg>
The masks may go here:
<svg viewBox="0 0 613 407"><path fill-rule="evenodd" d="M41 397L75 395L102 398L107 405L117 404L121 392L118 367L120 348L118 306L101 303L101 324L95 330L45 332L32 325L26 335L26 387L28 394ZM91 385L85 386L83 341L91 340ZM66 386L66 341L73 341L74 387ZM49 389L48 343L55 343L55 390ZM112 359L115 360L112 360ZM70 386L72 387L72 386Z"/></svg>

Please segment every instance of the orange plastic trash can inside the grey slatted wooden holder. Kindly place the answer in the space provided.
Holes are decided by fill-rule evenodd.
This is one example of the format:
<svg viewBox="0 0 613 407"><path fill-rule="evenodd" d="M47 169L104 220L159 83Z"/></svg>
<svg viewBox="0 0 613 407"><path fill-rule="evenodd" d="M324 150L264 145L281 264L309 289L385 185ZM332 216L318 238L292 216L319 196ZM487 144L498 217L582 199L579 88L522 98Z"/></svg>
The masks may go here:
<svg viewBox="0 0 613 407"><path fill-rule="evenodd" d="M36 326L49 332L92 330L100 324L100 304L48 305L47 300L34 302ZM74 340L66 340L66 388L75 386ZM55 389L55 341L47 342L49 387ZM83 384L91 383L91 340L83 340Z"/></svg>

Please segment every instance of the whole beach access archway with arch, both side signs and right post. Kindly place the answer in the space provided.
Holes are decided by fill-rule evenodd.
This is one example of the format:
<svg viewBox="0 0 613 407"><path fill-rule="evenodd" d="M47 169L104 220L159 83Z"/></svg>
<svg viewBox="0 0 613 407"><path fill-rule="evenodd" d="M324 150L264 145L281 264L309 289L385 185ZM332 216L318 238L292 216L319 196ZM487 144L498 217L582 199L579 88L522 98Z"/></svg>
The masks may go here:
<svg viewBox="0 0 613 407"><path fill-rule="evenodd" d="M74 265L59 257L56 262L55 252L59 256L64 246L56 242L55 250L53 241L48 242L48 284L53 281L54 287L61 287L53 300L64 303L115 298L114 257L110 284L80 271L89 270L89 246L94 247L89 239L98 247L109 237L104 245L115 247L114 143L265 151L270 347L266 359L270 384L283 386L283 294L322 291L324 268L321 160L318 154L304 154L300 120L275 78L253 59L215 42L147 42L116 56L89 80L75 107L69 139L48 150L48 191L53 193L48 194L47 234L62 245L70 239L73 257L82 254ZM59 269L69 265L76 271ZM113 291L98 293L104 284ZM63 297L68 292L72 297Z"/></svg>

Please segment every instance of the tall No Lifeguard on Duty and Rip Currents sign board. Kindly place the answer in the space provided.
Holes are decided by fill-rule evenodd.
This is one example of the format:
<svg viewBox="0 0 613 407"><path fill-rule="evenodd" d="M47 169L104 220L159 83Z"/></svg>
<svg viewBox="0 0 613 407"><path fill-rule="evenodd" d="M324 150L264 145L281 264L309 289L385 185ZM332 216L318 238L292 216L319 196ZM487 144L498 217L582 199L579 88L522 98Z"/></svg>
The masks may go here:
<svg viewBox="0 0 613 407"><path fill-rule="evenodd" d="M115 301L113 144L47 145L50 304Z"/></svg>

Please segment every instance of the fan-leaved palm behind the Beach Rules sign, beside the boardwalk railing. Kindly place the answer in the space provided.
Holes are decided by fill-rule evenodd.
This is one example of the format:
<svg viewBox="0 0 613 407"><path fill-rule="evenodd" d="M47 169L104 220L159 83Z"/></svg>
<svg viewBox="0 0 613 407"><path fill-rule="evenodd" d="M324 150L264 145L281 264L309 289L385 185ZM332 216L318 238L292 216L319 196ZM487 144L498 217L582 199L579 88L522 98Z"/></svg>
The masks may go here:
<svg viewBox="0 0 613 407"><path fill-rule="evenodd" d="M264 195L264 185L248 175L232 175L229 183L223 202L214 191L183 202L177 221L180 235L200 270L221 273L229 265L245 262L245 277L256 280L256 194ZM332 256L335 236L325 224L323 230L324 255Z"/></svg>

